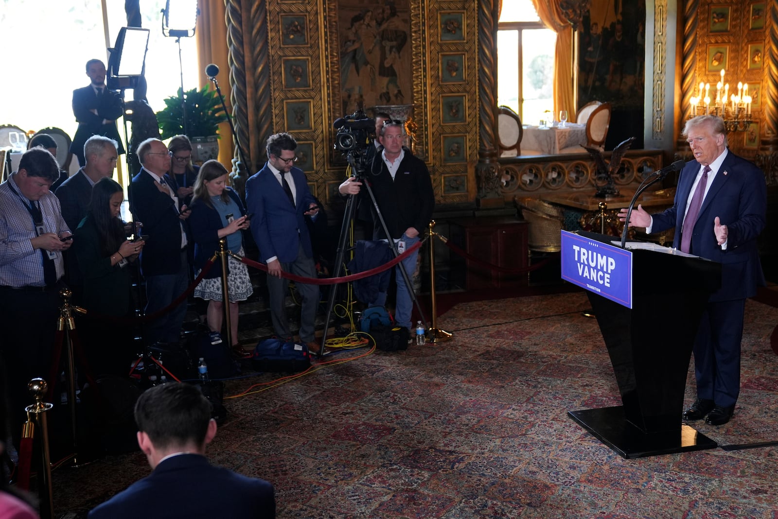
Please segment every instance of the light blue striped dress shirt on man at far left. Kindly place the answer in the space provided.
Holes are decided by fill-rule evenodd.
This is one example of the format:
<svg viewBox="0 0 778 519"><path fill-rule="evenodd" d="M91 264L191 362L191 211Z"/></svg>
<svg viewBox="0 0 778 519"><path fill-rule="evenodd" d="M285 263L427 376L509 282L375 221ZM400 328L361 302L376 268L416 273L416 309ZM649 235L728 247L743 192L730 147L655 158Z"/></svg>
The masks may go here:
<svg viewBox="0 0 778 519"><path fill-rule="evenodd" d="M37 236L33 217L16 185L16 173L0 184L0 286L4 287L43 287L44 266L40 250L33 249L31 239ZM59 199L49 191L38 200L40 212L44 217L46 232L70 232L62 218ZM57 279L65 273L61 251L54 253L54 266Z"/></svg>

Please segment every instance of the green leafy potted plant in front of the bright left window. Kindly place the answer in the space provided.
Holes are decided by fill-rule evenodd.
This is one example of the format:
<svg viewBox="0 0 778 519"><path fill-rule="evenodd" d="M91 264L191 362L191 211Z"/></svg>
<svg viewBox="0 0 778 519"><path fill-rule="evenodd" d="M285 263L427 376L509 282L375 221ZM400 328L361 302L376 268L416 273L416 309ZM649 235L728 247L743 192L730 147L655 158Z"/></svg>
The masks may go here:
<svg viewBox="0 0 778 519"><path fill-rule="evenodd" d="M162 138L185 134L192 143L192 160L205 162L219 155L219 124L227 120L222 103L216 92L208 86L184 92L187 130L184 132L184 111L181 103L181 89L177 95L165 99L165 107L156 113L156 120L162 129Z"/></svg>

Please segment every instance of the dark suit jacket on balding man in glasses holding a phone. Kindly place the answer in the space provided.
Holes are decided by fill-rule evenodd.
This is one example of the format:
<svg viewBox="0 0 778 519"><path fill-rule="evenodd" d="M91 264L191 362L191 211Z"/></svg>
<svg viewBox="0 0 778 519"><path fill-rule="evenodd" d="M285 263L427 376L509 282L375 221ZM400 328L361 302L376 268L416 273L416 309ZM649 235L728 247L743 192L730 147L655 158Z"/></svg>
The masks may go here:
<svg viewBox="0 0 778 519"><path fill-rule="evenodd" d="M149 236L141 251L141 272L144 276L177 273L181 267L181 223L176 204L156 188L145 169L133 177L129 193L130 211L143 224L143 234Z"/></svg>

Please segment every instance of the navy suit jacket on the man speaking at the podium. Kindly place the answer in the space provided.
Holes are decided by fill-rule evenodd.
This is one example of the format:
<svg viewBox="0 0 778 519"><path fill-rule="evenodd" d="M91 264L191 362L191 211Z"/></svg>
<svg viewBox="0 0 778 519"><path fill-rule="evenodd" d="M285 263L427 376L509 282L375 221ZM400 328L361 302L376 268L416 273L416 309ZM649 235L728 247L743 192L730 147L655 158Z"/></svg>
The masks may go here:
<svg viewBox="0 0 778 519"><path fill-rule="evenodd" d="M673 246L681 244L686 201L699 172L699 162L686 163L675 190L675 204L654 214L651 232L675 227ZM756 238L765 227L767 187L765 176L753 162L727 152L710 190L699 208L692 234L692 254L721 263L721 288L710 301L750 298L765 284ZM722 250L713 232L715 218L727 225L727 249Z"/></svg>

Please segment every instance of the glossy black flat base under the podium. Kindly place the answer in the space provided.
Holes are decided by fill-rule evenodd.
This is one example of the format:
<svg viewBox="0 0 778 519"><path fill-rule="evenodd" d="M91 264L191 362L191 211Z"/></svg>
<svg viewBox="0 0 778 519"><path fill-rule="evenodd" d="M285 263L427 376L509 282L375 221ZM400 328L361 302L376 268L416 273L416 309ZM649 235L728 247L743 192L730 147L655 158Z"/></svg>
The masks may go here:
<svg viewBox="0 0 778 519"><path fill-rule="evenodd" d="M718 446L715 441L685 424L678 431L644 433L626 420L623 406L583 409L567 414L622 458L703 451ZM681 421L680 413L678 421Z"/></svg>

